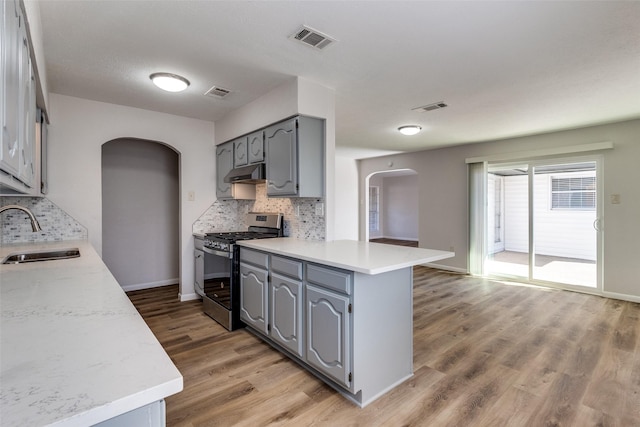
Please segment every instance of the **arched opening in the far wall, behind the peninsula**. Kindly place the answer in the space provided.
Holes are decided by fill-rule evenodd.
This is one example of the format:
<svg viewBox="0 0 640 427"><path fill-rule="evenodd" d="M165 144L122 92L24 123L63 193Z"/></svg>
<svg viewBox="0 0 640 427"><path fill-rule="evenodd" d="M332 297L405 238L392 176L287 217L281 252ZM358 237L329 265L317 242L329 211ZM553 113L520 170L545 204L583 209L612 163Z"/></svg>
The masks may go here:
<svg viewBox="0 0 640 427"><path fill-rule="evenodd" d="M418 173L413 169L374 172L365 179L365 240L418 246Z"/></svg>

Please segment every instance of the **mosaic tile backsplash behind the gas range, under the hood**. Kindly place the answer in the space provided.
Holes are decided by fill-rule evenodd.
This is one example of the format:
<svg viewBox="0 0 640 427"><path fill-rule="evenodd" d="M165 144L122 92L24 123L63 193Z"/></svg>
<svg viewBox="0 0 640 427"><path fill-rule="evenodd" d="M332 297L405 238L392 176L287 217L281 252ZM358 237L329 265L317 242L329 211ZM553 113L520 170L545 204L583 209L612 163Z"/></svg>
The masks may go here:
<svg viewBox="0 0 640 427"><path fill-rule="evenodd" d="M284 215L285 236L325 240L325 216L315 214L317 203L324 204L324 199L268 198L266 184L257 184L256 200L216 200L193 223L193 232L246 230L248 212L280 212Z"/></svg>

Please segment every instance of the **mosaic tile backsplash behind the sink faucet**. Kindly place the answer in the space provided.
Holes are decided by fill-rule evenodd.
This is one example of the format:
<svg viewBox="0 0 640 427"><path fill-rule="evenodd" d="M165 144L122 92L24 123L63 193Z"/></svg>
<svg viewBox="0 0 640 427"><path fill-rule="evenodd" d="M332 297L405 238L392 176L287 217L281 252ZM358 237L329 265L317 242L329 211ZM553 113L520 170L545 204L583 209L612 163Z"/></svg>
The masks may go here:
<svg viewBox="0 0 640 427"><path fill-rule="evenodd" d="M0 206L20 205L35 215L42 231L31 231L27 214L10 209L0 215L0 245L9 243L86 240L88 232L65 211L44 197L2 196Z"/></svg>

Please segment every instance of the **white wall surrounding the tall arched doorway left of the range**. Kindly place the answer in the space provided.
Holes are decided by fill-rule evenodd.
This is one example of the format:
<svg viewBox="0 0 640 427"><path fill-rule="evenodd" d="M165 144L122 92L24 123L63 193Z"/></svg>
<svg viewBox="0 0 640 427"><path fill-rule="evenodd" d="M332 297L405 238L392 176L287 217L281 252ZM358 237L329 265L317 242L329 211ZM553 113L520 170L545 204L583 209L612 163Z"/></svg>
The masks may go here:
<svg viewBox="0 0 640 427"><path fill-rule="evenodd" d="M214 124L54 93L49 102L48 197L87 227L100 254L102 144L141 138L180 153L180 298L196 298L191 225L215 200ZM188 191L195 192L195 201L187 201Z"/></svg>

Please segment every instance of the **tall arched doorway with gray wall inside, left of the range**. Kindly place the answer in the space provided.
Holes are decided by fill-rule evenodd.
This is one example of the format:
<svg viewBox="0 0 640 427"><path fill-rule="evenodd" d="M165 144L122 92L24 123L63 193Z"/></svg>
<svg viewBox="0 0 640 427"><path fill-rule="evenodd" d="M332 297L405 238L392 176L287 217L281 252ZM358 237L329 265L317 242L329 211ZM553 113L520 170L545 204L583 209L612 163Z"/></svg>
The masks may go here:
<svg viewBox="0 0 640 427"><path fill-rule="evenodd" d="M102 145L102 258L127 291L179 283L180 156L156 141Z"/></svg>

